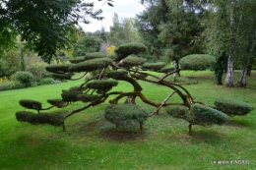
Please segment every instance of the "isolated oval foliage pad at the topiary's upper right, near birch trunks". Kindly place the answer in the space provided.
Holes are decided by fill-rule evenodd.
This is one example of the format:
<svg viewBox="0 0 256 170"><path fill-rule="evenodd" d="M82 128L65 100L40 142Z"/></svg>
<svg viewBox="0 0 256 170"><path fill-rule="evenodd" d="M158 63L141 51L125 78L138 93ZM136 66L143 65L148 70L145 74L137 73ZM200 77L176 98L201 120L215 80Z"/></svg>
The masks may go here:
<svg viewBox="0 0 256 170"><path fill-rule="evenodd" d="M210 69L216 62L215 57L207 54L192 54L183 57L179 64L182 70L203 71Z"/></svg>

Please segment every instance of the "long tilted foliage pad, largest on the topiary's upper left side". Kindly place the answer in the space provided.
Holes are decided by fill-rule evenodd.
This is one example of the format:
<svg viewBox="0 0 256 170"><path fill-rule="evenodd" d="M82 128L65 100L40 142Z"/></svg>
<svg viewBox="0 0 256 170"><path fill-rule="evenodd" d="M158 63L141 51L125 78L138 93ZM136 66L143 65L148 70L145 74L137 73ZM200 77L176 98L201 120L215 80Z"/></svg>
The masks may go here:
<svg viewBox="0 0 256 170"><path fill-rule="evenodd" d="M69 72L93 72L99 69L106 68L111 63L112 60L109 58L96 58L71 65L69 67Z"/></svg>

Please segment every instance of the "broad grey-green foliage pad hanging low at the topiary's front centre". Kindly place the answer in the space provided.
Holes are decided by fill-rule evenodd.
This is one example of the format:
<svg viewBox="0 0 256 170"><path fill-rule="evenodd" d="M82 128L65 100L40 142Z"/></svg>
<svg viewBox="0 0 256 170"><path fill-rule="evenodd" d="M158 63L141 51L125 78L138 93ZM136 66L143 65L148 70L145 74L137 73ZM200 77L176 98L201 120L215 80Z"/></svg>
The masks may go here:
<svg viewBox="0 0 256 170"><path fill-rule="evenodd" d="M136 104L111 104L104 109L104 117L117 128L125 127L132 121L142 125L147 120L150 111Z"/></svg>

